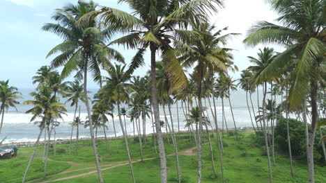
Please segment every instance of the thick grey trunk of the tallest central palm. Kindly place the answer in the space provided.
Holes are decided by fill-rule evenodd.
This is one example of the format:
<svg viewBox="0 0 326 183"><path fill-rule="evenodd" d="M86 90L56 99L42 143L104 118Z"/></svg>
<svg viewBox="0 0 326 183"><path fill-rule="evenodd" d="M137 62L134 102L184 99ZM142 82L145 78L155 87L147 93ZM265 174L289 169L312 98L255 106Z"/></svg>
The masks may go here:
<svg viewBox="0 0 326 183"><path fill-rule="evenodd" d="M154 110L155 127L157 133L157 142L160 150L160 163L161 163L161 183L167 182L167 169L166 169L166 157L164 150L164 142L160 124L160 111L157 103L157 89L156 89L156 60L155 60L156 46L150 45L150 77L152 80L152 105Z"/></svg>

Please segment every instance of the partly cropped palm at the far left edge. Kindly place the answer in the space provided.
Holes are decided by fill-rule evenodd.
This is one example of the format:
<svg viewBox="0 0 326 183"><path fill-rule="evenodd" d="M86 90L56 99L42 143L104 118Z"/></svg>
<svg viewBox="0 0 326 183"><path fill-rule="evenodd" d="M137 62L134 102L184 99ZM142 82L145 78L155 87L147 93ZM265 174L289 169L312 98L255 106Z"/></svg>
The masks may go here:
<svg viewBox="0 0 326 183"><path fill-rule="evenodd" d="M2 114L0 133L3 125L4 111L8 110L9 107L14 107L17 110L15 105L20 103L19 101L17 101L17 99L22 98L22 96L20 96L20 92L18 92L18 89L16 87L10 87L8 83L9 80L0 81L0 114Z"/></svg>

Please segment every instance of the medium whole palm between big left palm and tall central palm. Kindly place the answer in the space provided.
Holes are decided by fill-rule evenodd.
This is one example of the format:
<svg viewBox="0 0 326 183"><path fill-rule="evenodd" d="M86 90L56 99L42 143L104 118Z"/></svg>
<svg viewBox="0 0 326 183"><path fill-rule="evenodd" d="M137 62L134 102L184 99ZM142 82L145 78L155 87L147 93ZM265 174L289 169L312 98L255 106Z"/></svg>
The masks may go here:
<svg viewBox="0 0 326 183"><path fill-rule="evenodd" d="M123 137L125 138L125 147L127 149L127 155L130 164L130 171L132 174L132 182L136 182L134 179L134 170L132 168L132 159L130 155L130 149L127 139L127 132L123 127L123 121L121 119L121 102L125 102L128 100L130 89L132 89L132 84L127 83L130 80L129 73L125 73L125 65L115 65L114 67L110 67L106 69L107 73L109 73L109 77L105 77L106 85L100 89L100 95L110 96L111 100L116 101L116 105L118 107L118 116L120 121L121 130L123 132Z"/></svg>

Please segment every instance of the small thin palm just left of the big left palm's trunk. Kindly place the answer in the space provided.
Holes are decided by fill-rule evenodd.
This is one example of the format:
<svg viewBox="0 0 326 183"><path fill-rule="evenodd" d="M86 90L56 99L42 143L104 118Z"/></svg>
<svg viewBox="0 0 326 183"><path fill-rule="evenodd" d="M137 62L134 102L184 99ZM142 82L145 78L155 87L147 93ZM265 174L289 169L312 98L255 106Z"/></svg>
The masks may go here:
<svg viewBox="0 0 326 183"><path fill-rule="evenodd" d="M83 92L83 84L79 82L79 80L75 80L74 82L68 82L66 89L65 89L65 96L68 97L65 103L70 103L70 106L75 106L74 112L74 119L72 119L72 129L71 129L71 136L70 136L70 146L69 146L69 155L71 155L71 143L72 143L72 132L74 130L74 126L76 125L76 113L79 101L85 102L84 100L84 92ZM79 123L77 123L77 126Z"/></svg>

